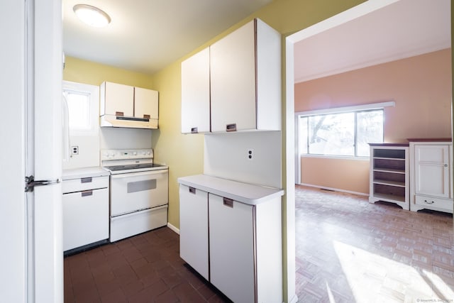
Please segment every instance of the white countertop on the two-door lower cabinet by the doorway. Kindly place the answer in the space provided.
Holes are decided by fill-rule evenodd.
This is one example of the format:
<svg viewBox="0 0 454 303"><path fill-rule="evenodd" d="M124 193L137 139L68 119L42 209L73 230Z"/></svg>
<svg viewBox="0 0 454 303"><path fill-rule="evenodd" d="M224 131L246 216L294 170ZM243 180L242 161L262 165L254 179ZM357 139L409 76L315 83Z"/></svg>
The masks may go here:
<svg viewBox="0 0 454 303"><path fill-rule="evenodd" d="M179 177L178 182L204 192L250 205L260 204L269 199L281 197L284 194L284 189L236 182L209 175Z"/></svg>

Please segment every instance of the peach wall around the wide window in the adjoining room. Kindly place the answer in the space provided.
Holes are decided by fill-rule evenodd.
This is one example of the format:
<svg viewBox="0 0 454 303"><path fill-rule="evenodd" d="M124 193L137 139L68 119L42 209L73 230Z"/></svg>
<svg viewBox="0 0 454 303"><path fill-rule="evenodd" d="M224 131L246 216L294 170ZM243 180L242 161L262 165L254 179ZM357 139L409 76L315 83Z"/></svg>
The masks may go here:
<svg viewBox="0 0 454 303"><path fill-rule="evenodd" d="M450 49L440 50L297 83L295 112L394 100L396 106L384 109L385 142L450 138L450 55ZM368 194L368 181L369 171L364 170L362 161L301 158L303 184Z"/></svg>

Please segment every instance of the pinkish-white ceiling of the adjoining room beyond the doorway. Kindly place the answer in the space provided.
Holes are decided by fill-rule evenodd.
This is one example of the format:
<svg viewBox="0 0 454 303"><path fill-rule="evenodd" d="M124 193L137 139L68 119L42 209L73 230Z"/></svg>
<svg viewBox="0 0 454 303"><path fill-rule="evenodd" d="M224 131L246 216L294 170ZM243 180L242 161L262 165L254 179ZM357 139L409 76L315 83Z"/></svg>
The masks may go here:
<svg viewBox="0 0 454 303"><path fill-rule="evenodd" d="M401 0L295 43L295 82L450 45L450 0Z"/></svg>

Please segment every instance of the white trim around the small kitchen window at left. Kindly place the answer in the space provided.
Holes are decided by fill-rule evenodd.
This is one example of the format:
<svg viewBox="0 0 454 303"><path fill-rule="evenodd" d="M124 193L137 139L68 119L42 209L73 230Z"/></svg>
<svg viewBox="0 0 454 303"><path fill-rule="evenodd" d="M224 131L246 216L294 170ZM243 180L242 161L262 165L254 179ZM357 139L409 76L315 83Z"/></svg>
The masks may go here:
<svg viewBox="0 0 454 303"><path fill-rule="evenodd" d="M91 128L87 131L70 130L70 136L98 136L99 134L99 87L91 84L84 84L71 81L63 81L63 90L83 92L89 95L90 104L90 124Z"/></svg>

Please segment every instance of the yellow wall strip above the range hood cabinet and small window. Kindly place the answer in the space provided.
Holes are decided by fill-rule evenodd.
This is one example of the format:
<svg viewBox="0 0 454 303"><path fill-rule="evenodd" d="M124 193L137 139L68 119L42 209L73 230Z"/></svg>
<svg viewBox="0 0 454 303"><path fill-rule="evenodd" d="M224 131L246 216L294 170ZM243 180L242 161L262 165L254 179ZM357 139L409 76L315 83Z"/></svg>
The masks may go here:
<svg viewBox="0 0 454 303"><path fill-rule="evenodd" d="M153 89L153 77L131 72L118 67L82 60L70 56L65 57L63 79L84 84L99 85L104 81L116 82L145 89Z"/></svg>

